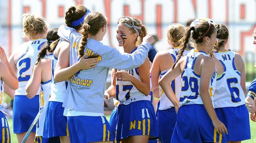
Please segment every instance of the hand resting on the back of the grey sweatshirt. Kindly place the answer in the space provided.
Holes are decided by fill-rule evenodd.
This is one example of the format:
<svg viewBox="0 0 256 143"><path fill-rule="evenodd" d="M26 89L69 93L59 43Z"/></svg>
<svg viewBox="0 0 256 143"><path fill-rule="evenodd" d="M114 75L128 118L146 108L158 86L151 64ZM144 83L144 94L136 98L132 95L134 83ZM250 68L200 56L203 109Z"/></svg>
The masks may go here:
<svg viewBox="0 0 256 143"><path fill-rule="evenodd" d="M99 60L97 58L90 58L90 59L84 59L86 55L83 55L80 60L77 62L78 69L79 70L87 70L95 68L96 65L99 63Z"/></svg>

